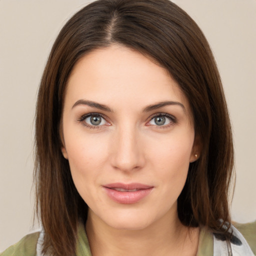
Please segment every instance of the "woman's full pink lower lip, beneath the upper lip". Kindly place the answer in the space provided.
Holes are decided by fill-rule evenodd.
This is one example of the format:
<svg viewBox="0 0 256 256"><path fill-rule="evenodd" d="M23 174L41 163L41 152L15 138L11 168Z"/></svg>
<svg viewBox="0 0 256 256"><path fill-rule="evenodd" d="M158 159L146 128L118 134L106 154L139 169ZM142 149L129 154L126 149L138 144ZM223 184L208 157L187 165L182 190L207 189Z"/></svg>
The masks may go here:
<svg viewBox="0 0 256 256"><path fill-rule="evenodd" d="M152 189L153 187L149 187L149 188L139 189L137 191L132 191L132 192L122 192L122 191L117 191L108 187L104 187L106 194L112 200L118 203L124 203L124 204L130 204L130 203L135 203L140 201L145 196L147 196L152 191Z"/></svg>

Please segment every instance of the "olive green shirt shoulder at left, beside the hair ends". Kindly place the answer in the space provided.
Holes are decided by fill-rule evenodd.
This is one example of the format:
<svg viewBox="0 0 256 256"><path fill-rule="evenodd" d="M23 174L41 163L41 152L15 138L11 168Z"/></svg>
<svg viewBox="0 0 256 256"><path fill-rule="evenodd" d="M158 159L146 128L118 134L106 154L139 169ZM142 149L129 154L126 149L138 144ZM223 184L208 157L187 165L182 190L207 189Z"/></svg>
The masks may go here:
<svg viewBox="0 0 256 256"><path fill-rule="evenodd" d="M27 234L20 241L0 253L0 256L35 256L39 233Z"/></svg>

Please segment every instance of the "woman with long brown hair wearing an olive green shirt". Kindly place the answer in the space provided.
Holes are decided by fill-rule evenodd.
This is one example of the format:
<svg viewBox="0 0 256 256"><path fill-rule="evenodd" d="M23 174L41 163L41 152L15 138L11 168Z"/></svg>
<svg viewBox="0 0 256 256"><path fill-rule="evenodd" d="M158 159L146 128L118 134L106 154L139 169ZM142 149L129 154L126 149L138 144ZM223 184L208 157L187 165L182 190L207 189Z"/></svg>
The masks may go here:
<svg viewBox="0 0 256 256"><path fill-rule="evenodd" d="M230 224L219 74L172 2L99 0L78 11L49 55L35 128L43 231L3 255L255 253L248 227L246 241Z"/></svg>

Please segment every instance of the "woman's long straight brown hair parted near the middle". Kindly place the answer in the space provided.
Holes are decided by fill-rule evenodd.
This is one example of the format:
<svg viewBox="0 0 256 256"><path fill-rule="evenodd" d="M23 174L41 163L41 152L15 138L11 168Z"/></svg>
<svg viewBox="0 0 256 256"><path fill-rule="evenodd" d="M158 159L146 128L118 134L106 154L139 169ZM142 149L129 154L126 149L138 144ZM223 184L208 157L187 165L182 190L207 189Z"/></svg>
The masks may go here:
<svg viewBox="0 0 256 256"><path fill-rule="evenodd" d="M35 120L36 209L45 231L43 251L74 255L76 227L87 205L61 154L59 126L72 67L86 52L120 43L165 67L189 100L200 157L189 166L178 198L187 226L223 232L230 222L228 188L233 146L228 111L210 47L196 23L169 0L97 0L75 13L49 54L38 92Z"/></svg>

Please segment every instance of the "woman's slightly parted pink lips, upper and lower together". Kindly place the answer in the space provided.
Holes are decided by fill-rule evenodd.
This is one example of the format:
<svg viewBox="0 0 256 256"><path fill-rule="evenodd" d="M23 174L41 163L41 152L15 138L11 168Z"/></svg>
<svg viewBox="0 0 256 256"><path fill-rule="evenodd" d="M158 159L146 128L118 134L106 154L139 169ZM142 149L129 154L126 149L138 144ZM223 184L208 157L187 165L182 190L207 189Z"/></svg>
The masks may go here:
<svg viewBox="0 0 256 256"><path fill-rule="evenodd" d="M123 204L136 203L147 196L153 189L153 186L141 184L141 183L111 183L103 185L106 194L110 199ZM115 190L131 190L131 191L119 191Z"/></svg>

